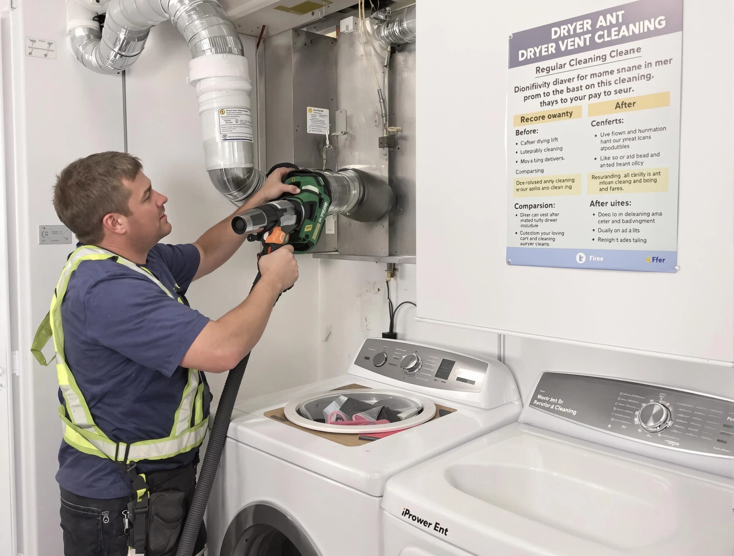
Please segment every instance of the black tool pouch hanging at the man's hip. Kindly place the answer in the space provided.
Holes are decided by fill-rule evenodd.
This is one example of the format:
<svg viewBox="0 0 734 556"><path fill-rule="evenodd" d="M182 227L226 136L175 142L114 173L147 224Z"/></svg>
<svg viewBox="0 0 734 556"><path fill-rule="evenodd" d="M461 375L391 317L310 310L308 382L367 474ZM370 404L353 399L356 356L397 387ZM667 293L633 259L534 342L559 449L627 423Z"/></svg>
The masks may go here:
<svg viewBox="0 0 734 556"><path fill-rule="evenodd" d="M186 494L182 491L162 491L150 494L145 555L175 555L178 535L181 533L185 516Z"/></svg>

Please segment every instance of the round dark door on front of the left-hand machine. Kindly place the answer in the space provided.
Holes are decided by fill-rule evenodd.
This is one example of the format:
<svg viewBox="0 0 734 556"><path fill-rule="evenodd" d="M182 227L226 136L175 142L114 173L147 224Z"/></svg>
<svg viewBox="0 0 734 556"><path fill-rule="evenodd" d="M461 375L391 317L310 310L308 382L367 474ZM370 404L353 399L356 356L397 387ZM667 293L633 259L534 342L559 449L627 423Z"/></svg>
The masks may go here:
<svg viewBox="0 0 734 556"><path fill-rule="evenodd" d="M321 556L321 552L285 513L256 504L232 520L219 556Z"/></svg>

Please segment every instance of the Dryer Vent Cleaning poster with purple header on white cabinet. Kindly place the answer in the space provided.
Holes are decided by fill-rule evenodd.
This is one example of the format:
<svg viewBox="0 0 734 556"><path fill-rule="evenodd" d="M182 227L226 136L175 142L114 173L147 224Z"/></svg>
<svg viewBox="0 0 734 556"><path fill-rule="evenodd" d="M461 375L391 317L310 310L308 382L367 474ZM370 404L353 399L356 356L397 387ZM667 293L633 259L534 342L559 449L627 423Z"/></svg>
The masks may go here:
<svg viewBox="0 0 734 556"><path fill-rule="evenodd" d="M683 0L514 33L507 264L677 270Z"/></svg>

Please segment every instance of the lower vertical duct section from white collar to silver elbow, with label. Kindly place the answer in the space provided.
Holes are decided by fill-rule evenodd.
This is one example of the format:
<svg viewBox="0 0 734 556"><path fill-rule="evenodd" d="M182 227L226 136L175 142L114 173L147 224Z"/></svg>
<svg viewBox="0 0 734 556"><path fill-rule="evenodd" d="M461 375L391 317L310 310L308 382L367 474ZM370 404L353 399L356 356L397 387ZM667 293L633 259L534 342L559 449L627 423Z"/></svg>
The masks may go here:
<svg viewBox="0 0 734 556"><path fill-rule="evenodd" d="M206 170L220 192L242 203L265 181L255 169L247 59L236 54L194 58L189 84L199 102Z"/></svg>

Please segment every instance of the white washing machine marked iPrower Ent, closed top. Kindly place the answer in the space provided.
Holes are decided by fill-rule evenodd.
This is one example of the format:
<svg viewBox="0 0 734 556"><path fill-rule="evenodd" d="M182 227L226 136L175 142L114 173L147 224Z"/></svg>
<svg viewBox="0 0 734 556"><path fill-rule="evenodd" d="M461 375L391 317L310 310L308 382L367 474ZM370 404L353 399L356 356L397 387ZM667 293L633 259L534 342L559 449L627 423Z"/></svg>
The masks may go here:
<svg viewBox="0 0 734 556"><path fill-rule="evenodd" d="M520 422L388 481L385 556L734 555L734 402L545 372Z"/></svg>

